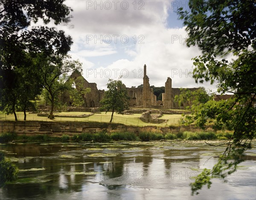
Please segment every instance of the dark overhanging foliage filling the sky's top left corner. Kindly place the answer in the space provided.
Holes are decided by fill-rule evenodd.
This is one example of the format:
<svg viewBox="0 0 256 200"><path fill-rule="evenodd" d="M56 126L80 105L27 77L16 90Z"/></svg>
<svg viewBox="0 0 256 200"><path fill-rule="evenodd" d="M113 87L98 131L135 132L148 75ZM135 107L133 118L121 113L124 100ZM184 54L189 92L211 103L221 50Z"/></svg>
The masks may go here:
<svg viewBox="0 0 256 200"><path fill-rule="evenodd" d="M0 5L0 49L4 50L5 57L12 58L13 61L9 61L22 60L23 50L45 51L49 54L66 54L70 50L72 41L70 36L65 36L64 31L47 26L27 29L39 19L44 24L52 20L55 25L70 21L71 9L64 4L64 0L0 0Z"/></svg>

